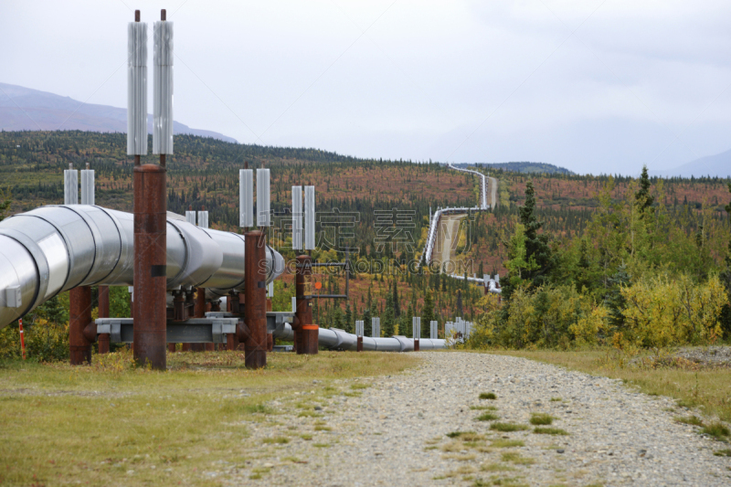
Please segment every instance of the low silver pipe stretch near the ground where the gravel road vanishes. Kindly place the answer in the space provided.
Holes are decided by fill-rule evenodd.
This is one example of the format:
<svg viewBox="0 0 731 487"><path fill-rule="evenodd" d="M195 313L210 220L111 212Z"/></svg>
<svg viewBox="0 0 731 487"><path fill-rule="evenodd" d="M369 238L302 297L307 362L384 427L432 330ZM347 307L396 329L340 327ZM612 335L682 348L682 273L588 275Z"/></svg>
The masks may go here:
<svg viewBox="0 0 731 487"><path fill-rule="evenodd" d="M281 328L274 331L274 337L281 340L294 340L294 332L289 323L283 323ZM357 348L357 337L353 333L347 333L337 328L320 328L318 344L331 350L350 350L355 352ZM445 340L421 339L418 341L420 350L440 350L447 348ZM405 336L393 336L391 338L363 337L363 350L372 352L412 352L414 341Z"/></svg>

